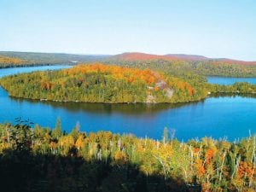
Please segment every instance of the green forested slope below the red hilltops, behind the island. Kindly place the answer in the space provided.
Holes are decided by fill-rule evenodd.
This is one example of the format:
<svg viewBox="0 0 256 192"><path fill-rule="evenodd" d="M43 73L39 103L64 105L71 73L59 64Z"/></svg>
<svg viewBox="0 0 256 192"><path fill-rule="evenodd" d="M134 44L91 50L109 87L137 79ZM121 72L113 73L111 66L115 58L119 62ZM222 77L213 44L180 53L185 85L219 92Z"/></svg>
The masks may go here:
<svg viewBox="0 0 256 192"><path fill-rule="evenodd" d="M167 74L186 76L188 73L204 76L256 77L256 65L232 63L230 61L168 61L161 59L127 61L108 57L102 62L115 63L125 67L140 67L160 70Z"/></svg>

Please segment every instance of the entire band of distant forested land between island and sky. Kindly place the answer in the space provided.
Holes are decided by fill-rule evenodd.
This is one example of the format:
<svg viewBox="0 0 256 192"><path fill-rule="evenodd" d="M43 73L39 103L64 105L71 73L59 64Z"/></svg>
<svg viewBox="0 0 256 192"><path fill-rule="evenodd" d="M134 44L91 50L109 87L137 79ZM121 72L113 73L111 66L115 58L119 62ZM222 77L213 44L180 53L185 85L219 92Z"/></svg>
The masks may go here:
<svg viewBox="0 0 256 192"><path fill-rule="evenodd" d="M13 58L1 63L1 57ZM17 62L18 61L18 62ZM119 55L73 55L61 53L33 53L0 51L0 67L23 67L76 62L102 62L125 67L150 68L165 73L215 75L224 77L256 77L255 61L212 59L201 55L149 55L124 53ZM19 65L17 65L19 63Z"/></svg>

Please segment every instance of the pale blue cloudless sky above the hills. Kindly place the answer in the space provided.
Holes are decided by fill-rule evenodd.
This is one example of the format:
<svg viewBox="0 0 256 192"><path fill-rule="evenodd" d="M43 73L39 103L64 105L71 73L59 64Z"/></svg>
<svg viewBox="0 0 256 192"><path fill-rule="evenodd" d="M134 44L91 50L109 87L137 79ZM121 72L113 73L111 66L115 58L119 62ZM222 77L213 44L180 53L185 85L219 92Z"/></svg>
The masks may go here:
<svg viewBox="0 0 256 192"><path fill-rule="evenodd" d="M256 61L255 0L0 0L0 50Z"/></svg>

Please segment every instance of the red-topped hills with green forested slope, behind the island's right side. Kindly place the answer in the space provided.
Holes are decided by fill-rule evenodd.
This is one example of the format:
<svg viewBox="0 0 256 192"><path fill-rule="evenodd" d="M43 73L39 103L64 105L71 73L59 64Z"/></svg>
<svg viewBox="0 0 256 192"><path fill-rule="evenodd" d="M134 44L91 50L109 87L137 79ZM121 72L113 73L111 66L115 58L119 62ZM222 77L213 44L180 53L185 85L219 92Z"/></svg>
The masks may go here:
<svg viewBox="0 0 256 192"><path fill-rule="evenodd" d="M256 77L256 61L208 58L202 55L152 55L130 52L108 56L102 62L125 67L150 68L188 79L190 74L224 77Z"/></svg>

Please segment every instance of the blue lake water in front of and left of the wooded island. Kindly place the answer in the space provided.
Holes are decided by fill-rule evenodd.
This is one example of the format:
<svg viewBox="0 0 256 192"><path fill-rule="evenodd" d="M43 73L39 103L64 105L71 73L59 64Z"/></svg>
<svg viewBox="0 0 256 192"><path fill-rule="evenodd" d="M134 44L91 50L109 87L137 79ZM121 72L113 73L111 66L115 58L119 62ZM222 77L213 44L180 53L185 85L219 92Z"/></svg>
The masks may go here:
<svg viewBox="0 0 256 192"><path fill-rule="evenodd" d="M68 66L65 66L68 67ZM62 66L0 69L0 76ZM113 131L137 137L160 139L164 127L175 130L179 140L195 137L227 137L230 141L256 132L256 99L242 96L215 96L184 104L102 104L40 102L9 97L0 88L0 122L15 118L54 127L57 117L62 128L71 131L77 122L81 131Z"/></svg>

